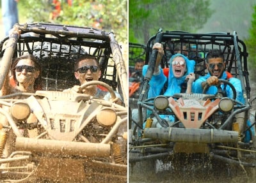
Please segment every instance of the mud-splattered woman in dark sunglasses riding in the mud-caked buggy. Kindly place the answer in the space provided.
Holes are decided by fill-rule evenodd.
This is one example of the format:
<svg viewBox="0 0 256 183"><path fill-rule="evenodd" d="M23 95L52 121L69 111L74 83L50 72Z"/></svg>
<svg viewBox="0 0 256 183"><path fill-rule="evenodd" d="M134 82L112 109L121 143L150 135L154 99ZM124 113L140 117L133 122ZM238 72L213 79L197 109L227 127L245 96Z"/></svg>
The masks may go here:
<svg viewBox="0 0 256 183"><path fill-rule="evenodd" d="M31 54L26 54L12 59L12 64L10 68L11 76L7 75L5 77L3 87L0 91L0 95L4 96L16 92L34 93L36 90L41 90L42 78L40 73L41 66L35 56ZM10 110L8 106L2 106L2 108L6 111ZM31 113L26 122L35 122L35 119L35 116L33 115L33 113ZM9 125L8 120L4 115L0 115L0 121L4 126ZM20 129L20 132L25 133L24 129ZM31 132L29 130L26 133L33 133L33 130ZM8 140L10 140L10 142L12 143L6 143L3 151L4 157L10 156L10 154L13 152L13 145L15 145L15 135L13 131L9 131L8 135ZM3 164L3 166L6 165Z"/></svg>

